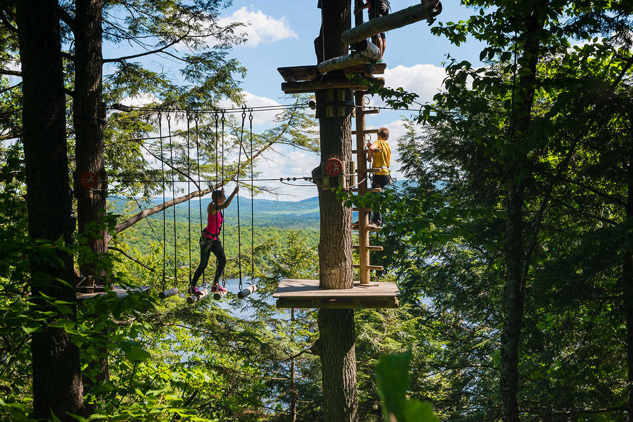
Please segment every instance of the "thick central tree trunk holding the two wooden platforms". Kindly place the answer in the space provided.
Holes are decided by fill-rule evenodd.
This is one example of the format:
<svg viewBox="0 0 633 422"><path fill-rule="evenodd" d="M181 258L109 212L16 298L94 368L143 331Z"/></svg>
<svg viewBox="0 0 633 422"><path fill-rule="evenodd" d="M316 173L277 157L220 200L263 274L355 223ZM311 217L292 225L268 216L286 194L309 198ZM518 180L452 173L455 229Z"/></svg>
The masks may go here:
<svg viewBox="0 0 633 422"><path fill-rule="evenodd" d="M323 0L324 59L348 53L341 34L351 25L348 1ZM325 101L325 93L316 94L316 102ZM319 119L321 161L339 158L351 160L351 115ZM322 288L351 288L352 213L344 207L334 192L319 189L320 242L319 272ZM323 402L325 421L358 420L356 390L356 350L354 348L354 310L321 309L318 316L319 350L323 371Z"/></svg>

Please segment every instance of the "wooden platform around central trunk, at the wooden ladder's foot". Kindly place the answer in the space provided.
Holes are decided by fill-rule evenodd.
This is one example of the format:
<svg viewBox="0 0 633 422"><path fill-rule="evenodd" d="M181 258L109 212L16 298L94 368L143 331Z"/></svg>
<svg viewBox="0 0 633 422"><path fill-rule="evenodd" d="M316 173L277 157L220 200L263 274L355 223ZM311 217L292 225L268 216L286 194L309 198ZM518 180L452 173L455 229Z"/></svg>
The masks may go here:
<svg viewBox="0 0 633 422"><path fill-rule="evenodd" d="M400 291L396 283L354 281L351 289L322 289L318 280L283 279L273 297L278 308L397 308Z"/></svg>

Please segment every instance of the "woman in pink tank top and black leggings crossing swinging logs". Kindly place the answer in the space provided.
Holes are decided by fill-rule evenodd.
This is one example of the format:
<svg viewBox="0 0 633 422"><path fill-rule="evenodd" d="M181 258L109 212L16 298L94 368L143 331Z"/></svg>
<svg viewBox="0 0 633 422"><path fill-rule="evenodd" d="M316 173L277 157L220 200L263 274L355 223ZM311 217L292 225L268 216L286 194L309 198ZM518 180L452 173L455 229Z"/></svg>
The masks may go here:
<svg viewBox="0 0 633 422"><path fill-rule="evenodd" d="M224 249L222 248L222 242L220 242L219 236L222 230L222 223L224 222L222 210L229 207L237 191L239 191L239 187L235 186L233 193L228 199L224 196L224 189L211 193L211 203L206 207L206 213L208 214L206 228L202 231L202 236L200 236L200 264L198 264L196 272L189 283L189 291L187 293L190 295L200 293L200 290L196 287L196 283L209 264L211 253L215 255L218 262L211 291L227 291L220 286L220 277L224 272L224 266L227 264L227 257L224 255Z"/></svg>

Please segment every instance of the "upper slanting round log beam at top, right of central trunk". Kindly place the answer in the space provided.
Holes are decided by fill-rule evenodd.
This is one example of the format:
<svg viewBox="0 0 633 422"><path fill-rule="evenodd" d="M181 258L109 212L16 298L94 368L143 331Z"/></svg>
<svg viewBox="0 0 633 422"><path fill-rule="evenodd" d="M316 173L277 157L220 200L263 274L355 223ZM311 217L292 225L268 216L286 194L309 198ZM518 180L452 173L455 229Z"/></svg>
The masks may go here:
<svg viewBox="0 0 633 422"><path fill-rule="evenodd" d="M434 12L439 2L437 0L422 0L421 4L399 10L389 15L373 18L369 22L358 25L343 32L341 39L346 44L354 44L364 39L378 35L380 32L387 32L392 29L401 28L420 20L432 18L437 13Z"/></svg>

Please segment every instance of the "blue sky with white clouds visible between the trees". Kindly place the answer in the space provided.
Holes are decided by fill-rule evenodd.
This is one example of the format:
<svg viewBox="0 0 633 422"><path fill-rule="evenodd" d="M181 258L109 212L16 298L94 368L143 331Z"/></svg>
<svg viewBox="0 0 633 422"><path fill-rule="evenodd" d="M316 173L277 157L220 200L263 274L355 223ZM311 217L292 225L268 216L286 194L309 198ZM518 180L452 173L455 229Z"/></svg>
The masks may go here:
<svg viewBox="0 0 633 422"><path fill-rule="evenodd" d="M391 12L416 4L411 1L392 0ZM441 15L437 22L457 22L465 20L475 11L468 10L456 1L443 1ZM365 11L367 21L367 11ZM248 74L241 80L241 87L246 94L248 106L276 105L292 103L281 91L284 82L278 67L316 64L313 40L318 35L321 23L321 11L316 8L316 0L306 1L265 1L248 3L240 0L222 12L220 23L245 22L244 28L248 41L232 50L231 56L237 58L241 65L248 69ZM437 24L436 22L436 24ZM327 19L326 19L327 25ZM468 39L461 46L450 44L443 37L430 33L427 22L417 22L387 33L387 45L384 61L387 68L384 73L385 86L403 87L407 91L417 93L418 101L430 101L442 87L445 77L442 62L450 54L458 60L468 60L473 65L480 65L479 53L482 44ZM104 48L104 57L129 54L128 50L117 51ZM153 57L155 63L161 59ZM156 63L158 62L158 63ZM160 63L173 67L175 63ZM176 74L177 69L174 69ZM105 69L104 71L107 72ZM139 105L139 104L137 104ZM381 105L380 99L372 100L372 105ZM227 105L228 106L228 105ZM390 131L392 146L391 169L394 177L402 177L399 172L396 139L404 134L401 125L403 111L381 110L379 114L368 115L368 128L385 126ZM254 131L263 131L272 127L269 115L254 115ZM374 135L375 136L375 135ZM375 140L375 138L374 138ZM310 176L311 169L318 165L320 158L302 150L280 148L279 153L268 153L267 160L262 160L257 167L261 178ZM300 200L316 196L316 187L294 187L270 182L268 186L283 188L284 195L279 200ZM275 184L276 183L276 184ZM232 189L229 186L227 190ZM243 189L246 191L246 189ZM246 192L244 192L246 195ZM261 194L258 198L277 199L270 194Z"/></svg>

